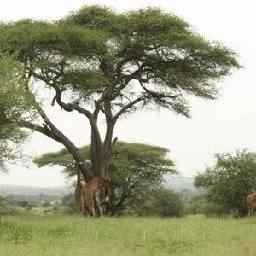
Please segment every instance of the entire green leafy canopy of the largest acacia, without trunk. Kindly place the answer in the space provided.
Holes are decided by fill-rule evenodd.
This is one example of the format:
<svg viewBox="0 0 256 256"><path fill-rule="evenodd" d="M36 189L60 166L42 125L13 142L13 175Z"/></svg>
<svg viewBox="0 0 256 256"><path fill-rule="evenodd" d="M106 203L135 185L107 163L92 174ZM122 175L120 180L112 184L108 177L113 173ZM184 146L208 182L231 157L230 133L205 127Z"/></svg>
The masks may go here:
<svg viewBox="0 0 256 256"><path fill-rule="evenodd" d="M241 67L234 51L207 41L177 15L157 8L119 14L85 6L57 22L2 24L0 35L1 49L19 52L23 63L29 57L32 75L49 86L82 92L92 102L99 98L93 94L112 86L110 102L116 112L127 99L141 98L131 107L153 103L189 116L185 94L214 99L214 82ZM134 80L141 86L132 85Z"/></svg>

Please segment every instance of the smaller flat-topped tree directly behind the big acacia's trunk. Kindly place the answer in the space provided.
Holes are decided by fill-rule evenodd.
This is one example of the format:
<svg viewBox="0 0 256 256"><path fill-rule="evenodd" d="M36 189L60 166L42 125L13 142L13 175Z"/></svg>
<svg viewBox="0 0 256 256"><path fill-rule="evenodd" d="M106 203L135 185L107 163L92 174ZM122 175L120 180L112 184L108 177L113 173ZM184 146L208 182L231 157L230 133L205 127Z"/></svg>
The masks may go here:
<svg viewBox="0 0 256 256"><path fill-rule="evenodd" d="M90 146L79 149L90 155ZM115 188L112 214L140 205L152 189L160 186L166 174L177 175L172 160L166 158L168 149L147 144L118 142L113 150L109 179ZM35 160L38 166L61 165L67 176L76 176L72 155L67 149L44 154ZM90 162L87 163L90 166Z"/></svg>

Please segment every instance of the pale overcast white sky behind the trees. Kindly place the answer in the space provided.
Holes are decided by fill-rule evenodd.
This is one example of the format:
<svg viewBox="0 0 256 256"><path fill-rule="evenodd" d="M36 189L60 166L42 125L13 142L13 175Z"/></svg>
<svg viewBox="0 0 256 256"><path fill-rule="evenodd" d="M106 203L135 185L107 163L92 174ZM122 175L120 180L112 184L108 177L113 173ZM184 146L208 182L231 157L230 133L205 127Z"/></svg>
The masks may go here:
<svg viewBox="0 0 256 256"><path fill-rule="evenodd" d="M203 37L234 49L244 69L218 84L222 96L215 101L193 99L191 119L171 111L137 113L119 120L114 135L128 143L148 143L170 149L170 158L183 176L194 177L214 163L213 154L248 148L256 150L256 15L254 0L166 0L166 1L37 1L1 0L0 21L32 18L57 20L81 6L102 4L118 11L157 6L189 22ZM57 126L76 145L90 143L90 126L81 116L48 108ZM24 146L27 154L40 155L62 148L48 137L34 134ZM9 166L0 173L1 184L55 186L65 183L61 168L33 166L27 170ZM1 187L0 187L1 189Z"/></svg>

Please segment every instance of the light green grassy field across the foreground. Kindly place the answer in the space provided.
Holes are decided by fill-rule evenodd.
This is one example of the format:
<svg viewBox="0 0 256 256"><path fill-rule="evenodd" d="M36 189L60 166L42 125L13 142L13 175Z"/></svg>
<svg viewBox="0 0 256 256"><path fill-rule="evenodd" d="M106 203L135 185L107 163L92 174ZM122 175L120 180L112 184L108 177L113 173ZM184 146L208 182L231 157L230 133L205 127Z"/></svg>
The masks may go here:
<svg viewBox="0 0 256 256"><path fill-rule="evenodd" d="M256 255L256 218L0 217L0 255Z"/></svg>

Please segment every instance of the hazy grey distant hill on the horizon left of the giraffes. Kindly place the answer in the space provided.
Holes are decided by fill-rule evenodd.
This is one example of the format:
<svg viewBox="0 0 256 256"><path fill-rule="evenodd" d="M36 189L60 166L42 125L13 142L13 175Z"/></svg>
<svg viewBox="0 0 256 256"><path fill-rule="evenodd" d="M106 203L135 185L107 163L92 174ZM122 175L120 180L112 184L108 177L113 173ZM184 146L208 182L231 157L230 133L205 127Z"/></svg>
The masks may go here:
<svg viewBox="0 0 256 256"><path fill-rule="evenodd" d="M37 195L37 194L61 194L65 195L73 192L73 189L70 189L66 186L59 187L29 187L29 186L16 186L16 185L1 185L0 184L0 194L14 194L14 195Z"/></svg>

